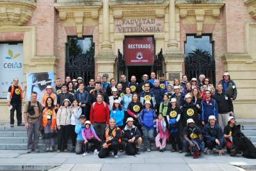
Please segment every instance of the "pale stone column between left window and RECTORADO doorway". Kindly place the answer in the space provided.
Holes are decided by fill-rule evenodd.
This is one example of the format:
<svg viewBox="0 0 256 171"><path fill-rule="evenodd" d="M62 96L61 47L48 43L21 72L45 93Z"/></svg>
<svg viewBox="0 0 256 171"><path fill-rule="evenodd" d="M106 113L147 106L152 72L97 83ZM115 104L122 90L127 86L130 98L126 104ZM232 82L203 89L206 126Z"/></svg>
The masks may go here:
<svg viewBox="0 0 256 171"><path fill-rule="evenodd" d="M109 40L109 0L103 0L102 28L103 40L101 49L94 58L98 65L98 75L102 76L104 73L108 73L109 78L113 78L116 56L111 49Z"/></svg>

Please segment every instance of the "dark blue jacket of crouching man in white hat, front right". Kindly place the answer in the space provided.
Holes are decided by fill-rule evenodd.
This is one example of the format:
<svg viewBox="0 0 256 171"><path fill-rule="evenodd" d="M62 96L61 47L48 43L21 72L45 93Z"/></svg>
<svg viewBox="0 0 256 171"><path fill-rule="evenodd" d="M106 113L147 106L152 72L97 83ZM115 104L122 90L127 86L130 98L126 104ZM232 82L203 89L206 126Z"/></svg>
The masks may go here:
<svg viewBox="0 0 256 171"><path fill-rule="evenodd" d="M210 140L212 142L215 142L216 139L220 141L220 145L218 145L218 149L221 150L223 146L223 131L217 123L214 125L213 128L211 128L210 123L205 124L203 128L203 136L205 140Z"/></svg>

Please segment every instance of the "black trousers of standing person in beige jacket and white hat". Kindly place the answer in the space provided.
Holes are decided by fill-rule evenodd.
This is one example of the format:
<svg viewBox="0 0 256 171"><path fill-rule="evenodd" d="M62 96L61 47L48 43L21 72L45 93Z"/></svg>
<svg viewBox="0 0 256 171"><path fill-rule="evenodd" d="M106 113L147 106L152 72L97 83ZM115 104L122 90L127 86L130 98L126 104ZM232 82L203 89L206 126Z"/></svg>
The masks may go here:
<svg viewBox="0 0 256 171"><path fill-rule="evenodd" d="M58 150L67 149L70 124L61 125L58 130Z"/></svg>

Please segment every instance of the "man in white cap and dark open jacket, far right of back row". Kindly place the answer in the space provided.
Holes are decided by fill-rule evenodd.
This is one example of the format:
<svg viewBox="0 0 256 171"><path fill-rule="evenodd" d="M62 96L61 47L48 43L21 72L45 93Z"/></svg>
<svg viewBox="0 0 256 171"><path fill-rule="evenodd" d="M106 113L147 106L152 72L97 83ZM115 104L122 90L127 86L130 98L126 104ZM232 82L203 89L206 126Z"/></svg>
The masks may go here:
<svg viewBox="0 0 256 171"><path fill-rule="evenodd" d="M223 92L228 93L231 100L236 100L236 84L233 80L231 80L228 72L223 73L223 80L220 80L219 84L222 84Z"/></svg>

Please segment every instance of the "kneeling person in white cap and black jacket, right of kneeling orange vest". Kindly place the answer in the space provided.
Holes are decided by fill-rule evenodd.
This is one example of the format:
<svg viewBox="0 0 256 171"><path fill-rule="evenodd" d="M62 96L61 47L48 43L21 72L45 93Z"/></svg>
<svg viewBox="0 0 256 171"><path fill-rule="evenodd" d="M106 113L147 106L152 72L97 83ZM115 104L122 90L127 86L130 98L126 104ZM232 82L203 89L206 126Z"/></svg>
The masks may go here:
<svg viewBox="0 0 256 171"><path fill-rule="evenodd" d="M136 151L134 154L140 154L140 145L142 143L140 130L133 125L133 118L128 117L126 121L126 126L122 130L122 142L126 145L126 152L129 154L129 147L136 146ZM131 146L129 144L132 144Z"/></svg>

